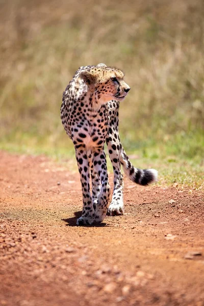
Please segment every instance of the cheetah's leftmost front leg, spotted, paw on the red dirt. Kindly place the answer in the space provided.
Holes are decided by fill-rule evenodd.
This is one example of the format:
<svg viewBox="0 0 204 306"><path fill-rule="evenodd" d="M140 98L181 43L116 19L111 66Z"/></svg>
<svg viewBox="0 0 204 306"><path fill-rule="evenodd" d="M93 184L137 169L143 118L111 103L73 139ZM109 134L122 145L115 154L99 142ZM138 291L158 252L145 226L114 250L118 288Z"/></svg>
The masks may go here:
<svg viewBox="0 0 204 306"><path fill-rule="evenodd" d="M75 155L80 172L83 193L83 211L82 216L77 220L77 225L92 224L94 220L94 209L90 194L90 169L87 151L75 148Z"/></svg>

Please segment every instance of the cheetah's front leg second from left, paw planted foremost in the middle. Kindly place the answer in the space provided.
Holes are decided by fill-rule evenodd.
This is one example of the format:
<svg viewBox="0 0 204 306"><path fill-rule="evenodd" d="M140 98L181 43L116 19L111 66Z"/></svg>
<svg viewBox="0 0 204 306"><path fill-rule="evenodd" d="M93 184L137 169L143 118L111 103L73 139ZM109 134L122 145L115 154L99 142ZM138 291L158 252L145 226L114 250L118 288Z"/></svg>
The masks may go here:
<svg viewBox="0 0 204 306"><path fill-rule="evenodd" d="M94 215L96 222L102 222L106 217L111 189L108 181L108 171L104 148L98 148L93 151L92 154L94 169L101 184Z"/></svg>

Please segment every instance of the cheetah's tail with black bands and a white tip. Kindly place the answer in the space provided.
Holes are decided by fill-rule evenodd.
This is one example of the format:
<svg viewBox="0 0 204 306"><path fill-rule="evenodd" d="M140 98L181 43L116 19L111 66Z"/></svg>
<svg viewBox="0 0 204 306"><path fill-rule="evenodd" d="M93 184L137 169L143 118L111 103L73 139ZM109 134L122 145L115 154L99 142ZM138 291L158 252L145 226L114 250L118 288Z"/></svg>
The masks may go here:
<svg viewBox="0 0 204 306"><path fill-rule="evenodd" d="M152 182L157 182L157 175L158 175L157 170L155 169L141 170L141 169L135 168L131 164L122 146L120 150L120 163L123 167L124 173L134 183L144 186Z"/></svg>

